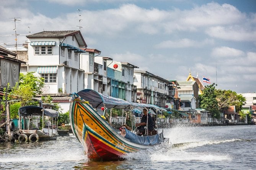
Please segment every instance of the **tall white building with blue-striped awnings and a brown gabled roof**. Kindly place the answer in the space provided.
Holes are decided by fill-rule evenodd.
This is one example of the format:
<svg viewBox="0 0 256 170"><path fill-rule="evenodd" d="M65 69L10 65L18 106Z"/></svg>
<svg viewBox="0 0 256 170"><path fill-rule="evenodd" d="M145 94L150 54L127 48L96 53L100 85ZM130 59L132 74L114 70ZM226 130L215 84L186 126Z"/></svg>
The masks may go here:
<svg viewBox="0 0 256 170"><path fill-rule="evenodd" d="M42 31L27 35L28 72L44 78L44 95L70 96L84 88L84 71L80 69L80 54L87 45L79 30ZM61 100L62 101L62 100ZM64 112L69 102L60 103Z"/></svg>

